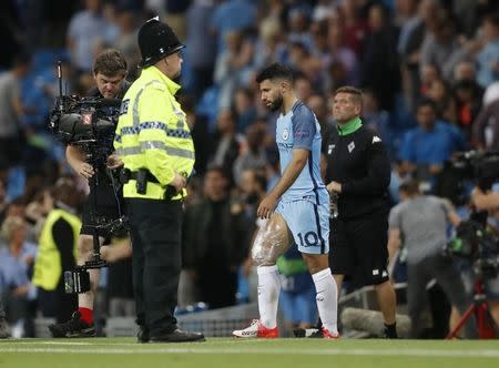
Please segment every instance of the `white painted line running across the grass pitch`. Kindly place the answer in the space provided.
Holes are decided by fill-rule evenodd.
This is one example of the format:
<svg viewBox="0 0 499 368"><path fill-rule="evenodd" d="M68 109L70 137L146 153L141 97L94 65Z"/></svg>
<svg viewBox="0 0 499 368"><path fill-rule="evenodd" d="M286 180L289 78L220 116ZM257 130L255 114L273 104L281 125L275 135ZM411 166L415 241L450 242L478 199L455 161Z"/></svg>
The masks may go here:
<svg viewBox="0 0 499 368"><path fill-rule="evenodd" d="M435 357L435 358L499 358L499 350L479 349L479 350L442 350L442 349L234 349L227 348L154 348L154 349L125 349L125 348L55 348L55 347L9 347L0 346L0 352L44 352L44 354L101 354L101 355L123 355L123 354L198 354L198 355L241 355L241 354L259 354L259 355L314 355L314 356L387 356L387 357Z"/></svg>

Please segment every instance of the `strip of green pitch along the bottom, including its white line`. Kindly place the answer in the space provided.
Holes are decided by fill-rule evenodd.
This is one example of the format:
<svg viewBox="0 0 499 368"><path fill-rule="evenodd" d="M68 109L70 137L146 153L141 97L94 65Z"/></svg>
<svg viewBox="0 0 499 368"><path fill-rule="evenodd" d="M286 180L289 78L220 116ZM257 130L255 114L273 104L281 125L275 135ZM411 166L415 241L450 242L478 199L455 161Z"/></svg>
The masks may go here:
<svg viewBox="0 0 499 368"><path fill-rule="evenodd" d="M499 340L208 338L145 344L132 338L0 340L0 368L499 367Z"/></svg>

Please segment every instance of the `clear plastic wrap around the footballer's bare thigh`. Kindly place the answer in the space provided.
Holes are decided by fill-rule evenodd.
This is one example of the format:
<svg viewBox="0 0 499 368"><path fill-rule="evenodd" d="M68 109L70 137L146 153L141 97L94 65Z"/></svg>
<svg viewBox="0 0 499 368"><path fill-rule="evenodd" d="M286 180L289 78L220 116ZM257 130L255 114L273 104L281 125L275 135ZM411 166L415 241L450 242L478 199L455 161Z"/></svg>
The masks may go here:
<svg viewBox="0 0 499 368"><path fill-rule="evenodd" d="M256 234L252 247L252 258L255 265L274 265L289 246L287 229L285 226L268 221Z"/></svg>

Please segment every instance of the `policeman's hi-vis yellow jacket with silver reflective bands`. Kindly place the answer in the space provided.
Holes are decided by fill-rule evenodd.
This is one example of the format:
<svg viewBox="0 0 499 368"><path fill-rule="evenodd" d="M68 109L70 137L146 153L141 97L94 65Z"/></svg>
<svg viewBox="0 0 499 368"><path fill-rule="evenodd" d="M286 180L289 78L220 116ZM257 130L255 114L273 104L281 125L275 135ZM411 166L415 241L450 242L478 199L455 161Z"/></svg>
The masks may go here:
<svg viewBox="0 0 499 368"><path fill-rule="evenodd" d="M179 89L180 85L157 68L150 67L124 95L114 137L116 154L125 168L132 172L147 168L160 182L147 182L145 194L139 194L135 181L130 180L123 186L124 197L163 200L175 171L191 174L194 144L185 113L174 98ZM183 195L185 193L173 200Z"/></svg>

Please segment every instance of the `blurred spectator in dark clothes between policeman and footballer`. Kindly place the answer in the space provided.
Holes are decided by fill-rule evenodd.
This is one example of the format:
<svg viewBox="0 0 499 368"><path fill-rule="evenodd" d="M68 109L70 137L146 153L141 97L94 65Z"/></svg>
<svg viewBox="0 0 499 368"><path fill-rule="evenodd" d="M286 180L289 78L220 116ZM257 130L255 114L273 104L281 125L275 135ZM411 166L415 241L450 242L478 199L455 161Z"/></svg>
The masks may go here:
<svg viewBox="0 0 499 368"><path fill-rule="evenodd" d="M244 213L231 211L222 167L208 168L204 194L185 214L184 268L191 270L201 300L220 308L235 304L237 267L247 257L251 233Z"/></svg>

